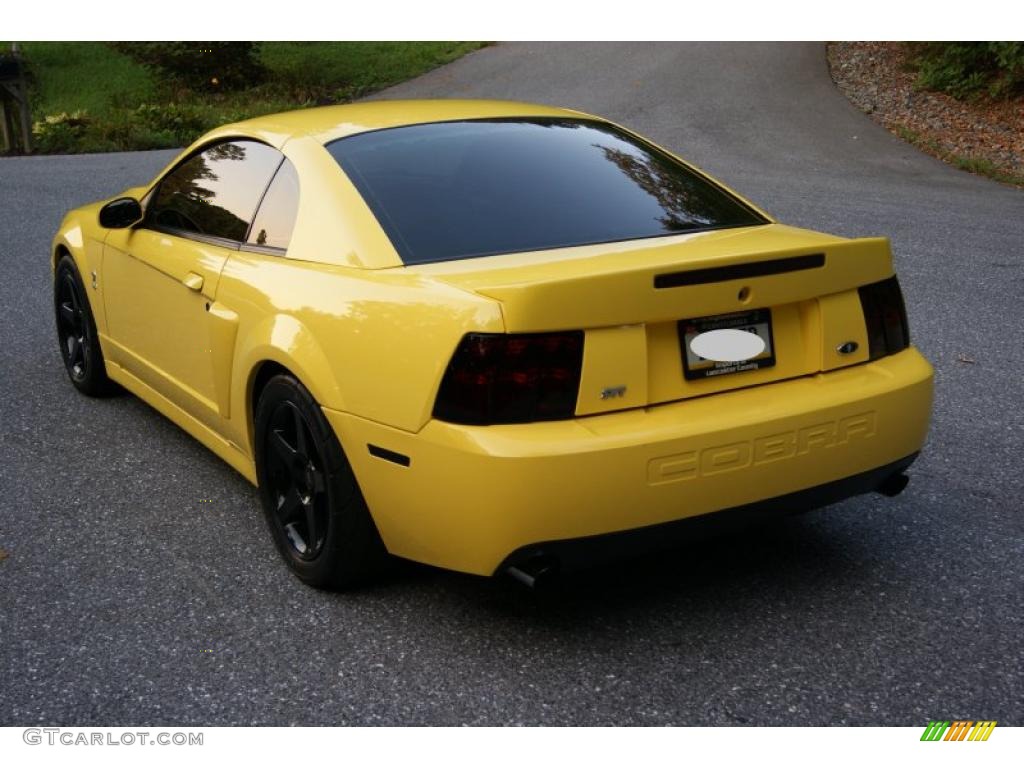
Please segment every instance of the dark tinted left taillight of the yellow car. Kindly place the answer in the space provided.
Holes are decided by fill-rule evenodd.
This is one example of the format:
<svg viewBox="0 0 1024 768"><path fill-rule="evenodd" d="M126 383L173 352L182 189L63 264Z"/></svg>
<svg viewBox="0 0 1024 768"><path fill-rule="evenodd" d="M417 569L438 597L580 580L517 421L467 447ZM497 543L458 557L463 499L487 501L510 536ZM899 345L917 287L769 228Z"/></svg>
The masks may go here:
<svg viewBox="0 0 1024 768"><path fill-rule="evenodd" d="M466 334L441 380L434 418L457 424L569 419L583 368L583 331Z"/></svg>

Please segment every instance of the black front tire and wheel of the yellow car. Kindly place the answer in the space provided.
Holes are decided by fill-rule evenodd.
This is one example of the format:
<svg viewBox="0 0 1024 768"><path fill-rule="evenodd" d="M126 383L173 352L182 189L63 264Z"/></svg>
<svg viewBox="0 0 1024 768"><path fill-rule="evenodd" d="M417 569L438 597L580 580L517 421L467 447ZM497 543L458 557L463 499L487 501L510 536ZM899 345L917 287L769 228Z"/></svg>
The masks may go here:
<svg viewBox="0 0 1024 768"><path fill-rule="evenodd" d="M106 378L106 364L82 276L69 254L57 262L53 311L60 357L71 383L90 397L105 397L117 392L117 385Z"/></svg>

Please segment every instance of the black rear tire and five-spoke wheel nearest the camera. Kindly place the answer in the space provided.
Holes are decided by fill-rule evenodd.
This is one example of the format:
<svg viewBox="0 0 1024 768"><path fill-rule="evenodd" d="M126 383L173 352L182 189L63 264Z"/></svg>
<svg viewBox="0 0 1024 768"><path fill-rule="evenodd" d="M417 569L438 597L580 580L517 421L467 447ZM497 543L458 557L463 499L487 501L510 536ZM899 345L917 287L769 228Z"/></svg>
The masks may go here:
<svg viewBox="0 0 1024 768"><path fill-rule="evenodd" d="M311 587L347 589L381 574L388 554L341 443L312 395L280 374L255 414L256 477L274 544Z"/></svg>

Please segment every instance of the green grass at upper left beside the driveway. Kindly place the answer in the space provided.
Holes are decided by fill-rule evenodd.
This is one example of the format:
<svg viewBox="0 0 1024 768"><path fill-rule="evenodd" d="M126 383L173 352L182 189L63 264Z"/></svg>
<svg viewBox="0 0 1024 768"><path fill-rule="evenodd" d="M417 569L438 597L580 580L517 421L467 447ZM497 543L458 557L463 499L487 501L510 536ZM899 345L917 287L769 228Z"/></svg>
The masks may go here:
<svg viewBox="0 0 1024 768"><path fill-rule="evenodd" d="M409 80L482 47L475 42L335 42L259 45L266 82L198 93L160 82L104 43L25 43L38 153L182 146L256 115L339 103ZM7 44L0 43L0 50Z"/></svg>

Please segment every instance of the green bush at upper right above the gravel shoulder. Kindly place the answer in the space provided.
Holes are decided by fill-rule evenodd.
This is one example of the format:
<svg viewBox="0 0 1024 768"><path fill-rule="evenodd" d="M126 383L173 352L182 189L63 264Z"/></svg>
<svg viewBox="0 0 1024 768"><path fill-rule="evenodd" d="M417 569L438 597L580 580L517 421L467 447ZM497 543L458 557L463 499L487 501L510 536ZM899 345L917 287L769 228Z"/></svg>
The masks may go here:
<svg viewBox="0 0 1024 768"><path fill-rule="evenodd" d="M1024 93L1024 42L911 43L918 84L955 98Z"/></svg>

